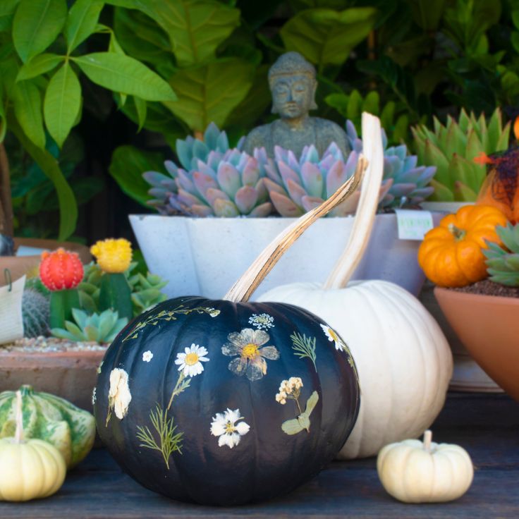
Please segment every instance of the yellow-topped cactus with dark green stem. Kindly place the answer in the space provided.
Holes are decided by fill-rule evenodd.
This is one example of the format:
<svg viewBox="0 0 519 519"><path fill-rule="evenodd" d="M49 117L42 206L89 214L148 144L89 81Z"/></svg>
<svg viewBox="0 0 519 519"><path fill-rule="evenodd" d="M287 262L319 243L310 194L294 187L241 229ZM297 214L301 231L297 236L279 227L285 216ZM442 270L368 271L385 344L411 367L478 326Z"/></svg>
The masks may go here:
<svg viewBox="0 0 519 519"><path fill-rule="evenodd" d="M132 245L128 240L108 238L92 245L90 252L104 274L99 290L99 310L114 310L118 317L133 317L131 289L124 271L132 261Z"/></svg>

